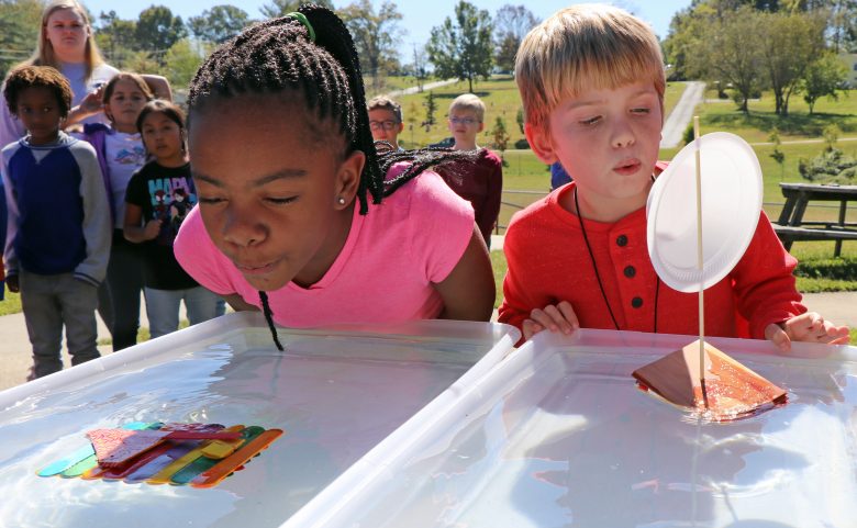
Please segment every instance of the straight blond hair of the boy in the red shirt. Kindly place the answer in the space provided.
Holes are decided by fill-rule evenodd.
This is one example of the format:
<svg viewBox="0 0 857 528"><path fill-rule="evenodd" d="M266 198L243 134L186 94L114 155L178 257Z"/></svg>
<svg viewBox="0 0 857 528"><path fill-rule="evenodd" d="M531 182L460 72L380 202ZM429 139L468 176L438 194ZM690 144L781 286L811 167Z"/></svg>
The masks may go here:
<svg viewBox="0 0 857 528"><path fill-rule="evenodd" d="M545 132L563 100L645 79L655 85L663 110L666 78L655 33L628 12L603 4L557 11L527 33L515 58L526 122Z"/></svg>

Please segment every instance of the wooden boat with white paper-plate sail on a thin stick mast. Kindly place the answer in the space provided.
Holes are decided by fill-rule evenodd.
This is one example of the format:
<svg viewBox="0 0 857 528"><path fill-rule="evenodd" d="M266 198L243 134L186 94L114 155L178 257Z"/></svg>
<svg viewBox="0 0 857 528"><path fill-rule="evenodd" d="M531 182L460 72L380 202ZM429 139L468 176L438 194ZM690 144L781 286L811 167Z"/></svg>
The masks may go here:
<svg viewBox="0 0 857 528"><path fill-rule="evenodd" d="M782 405L786 391L705 342L704 290L726 277L749 245L761 210L761 168L741 137L722 132L700 137L698 119L694 133L652 187L646 213L658 277L674 290L699 295L699 339L633 375L668 402L723 422ZM693 194L695 207L688 207Z"/></svg>

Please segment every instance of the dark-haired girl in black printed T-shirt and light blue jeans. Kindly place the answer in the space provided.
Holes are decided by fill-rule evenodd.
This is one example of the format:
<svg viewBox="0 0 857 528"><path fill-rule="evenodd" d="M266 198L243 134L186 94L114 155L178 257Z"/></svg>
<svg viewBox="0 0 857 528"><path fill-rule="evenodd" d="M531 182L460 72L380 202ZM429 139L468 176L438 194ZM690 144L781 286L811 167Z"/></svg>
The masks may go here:
<svg viewBox="0 0 857 528"><path fill-rule="evenodd" d="M125 238L141 245L146 313L152 337L176 332L185 302L191 325L214 317L218 297L181 269L172 241L197 202L190 177L185 113L171 102L154 100L137 116L152 161L131 177L125 193Z"/></svg>

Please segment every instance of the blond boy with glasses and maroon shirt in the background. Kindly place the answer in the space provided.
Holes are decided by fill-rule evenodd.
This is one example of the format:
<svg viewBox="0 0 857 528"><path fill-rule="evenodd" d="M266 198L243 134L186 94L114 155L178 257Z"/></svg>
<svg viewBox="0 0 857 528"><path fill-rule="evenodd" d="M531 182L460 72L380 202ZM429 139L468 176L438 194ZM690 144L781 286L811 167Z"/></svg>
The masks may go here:
<svg viewBox="0 0 857 528"><path fill-rule="evenodd" d="M503 190L503 164L500 157L476 144L485 130L485 103L472 93L458 96L449 105L448 123L455 145L453 150L477 150L476 164L448 164L437 167L446 183L474 206L476 224L491 247L491 231L500 213Z"/></svg>

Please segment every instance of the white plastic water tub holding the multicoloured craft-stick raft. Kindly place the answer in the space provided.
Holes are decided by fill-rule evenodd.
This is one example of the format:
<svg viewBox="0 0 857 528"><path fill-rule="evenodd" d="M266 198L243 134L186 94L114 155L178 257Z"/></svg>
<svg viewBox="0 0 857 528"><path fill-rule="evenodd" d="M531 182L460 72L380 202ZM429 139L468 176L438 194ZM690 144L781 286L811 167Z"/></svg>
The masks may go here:
<svg viewBox="0 0 857 528"><path fill-rule="evenodd" d="M259 314L231 314L0 393L0 526L279 526L409 418L449 406L519 337L439 321L279 335L285 352ZM130 422L285 434L209 490L36 475L87 430Z"/></svg>

